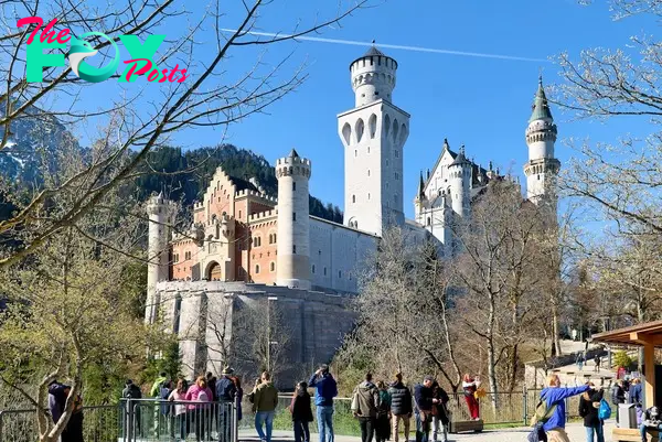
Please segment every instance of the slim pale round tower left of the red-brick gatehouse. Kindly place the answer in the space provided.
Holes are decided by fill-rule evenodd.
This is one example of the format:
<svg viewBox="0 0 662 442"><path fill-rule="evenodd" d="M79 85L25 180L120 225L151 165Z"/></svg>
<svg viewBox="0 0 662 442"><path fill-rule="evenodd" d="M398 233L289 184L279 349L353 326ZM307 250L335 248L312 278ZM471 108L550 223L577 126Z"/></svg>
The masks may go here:
<svg viewBox="0 0 662 442"><path fill-rule="evenodd" d="M148 260L147 265L147 302L145 322L153 324L159 316L161 300L157 292L157 282L168 281L170 254L168 241L170 226L175 214L174 203L163 197L163 194L152 195L147 202L149 216Z"/></svg>

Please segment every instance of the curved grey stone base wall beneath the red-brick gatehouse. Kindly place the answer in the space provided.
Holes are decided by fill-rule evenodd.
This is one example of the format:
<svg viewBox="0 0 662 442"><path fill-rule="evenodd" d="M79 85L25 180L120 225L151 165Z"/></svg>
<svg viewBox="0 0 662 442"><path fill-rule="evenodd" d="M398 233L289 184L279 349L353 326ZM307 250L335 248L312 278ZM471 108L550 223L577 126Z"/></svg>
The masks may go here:
<svg viewBox="0 0 662 442"><path fill-rule="evenodd" d="M281 388L291 388L310 376L317 365L329 363L355 320L349 309L351 297L310 290L244 282L164 281L157 291L164 301L166 326L180 337L188 378L205 371L220 374L226 364L224 349L229 352L229 363L238 375L247 379L257 375L260 367L239 355L250 353L256 339L266 338L266 311L250 309L260 302L263 306L268 302L273 317L277 317L278 323L270 325L273 338L287 333L287 343L279 348L282 356L277 385ZM255 325L247 330L247 322L263 324L263 334L256 336Z"/></svg>

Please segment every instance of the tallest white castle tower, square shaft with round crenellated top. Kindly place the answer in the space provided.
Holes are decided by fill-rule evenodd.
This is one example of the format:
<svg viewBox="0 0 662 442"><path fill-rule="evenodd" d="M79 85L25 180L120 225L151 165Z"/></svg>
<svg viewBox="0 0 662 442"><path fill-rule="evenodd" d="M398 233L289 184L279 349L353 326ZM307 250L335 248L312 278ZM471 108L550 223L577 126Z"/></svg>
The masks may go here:
<svg viewBox="0 0 662 442"><path fill-rule="evenodd" d="M382 235L404 224L403 147L409 114L392 104L397 62L372 46L350 65L355 107L338 116L345 148L344 224Z"/></svg>

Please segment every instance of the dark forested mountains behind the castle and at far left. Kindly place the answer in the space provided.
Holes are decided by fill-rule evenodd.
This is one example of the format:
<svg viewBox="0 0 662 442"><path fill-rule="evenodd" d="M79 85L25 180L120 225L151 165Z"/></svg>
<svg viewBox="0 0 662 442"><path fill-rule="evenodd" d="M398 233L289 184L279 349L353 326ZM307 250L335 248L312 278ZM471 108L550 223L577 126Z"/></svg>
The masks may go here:
<svg viewBox="0 0 662 442"><path fill-rule="evenodd" d="M0 180L11 183L17 191L31 191L43 185L42 170L44 166L57 168L58 147L64 142L84 149L54 116L33 114L32 118L12 121L9 143L0 150ZM202 198L218 166L242 180L255 177L267 194L278 195L274 166L263 155L232 144L185 152L172 147L156 149L149 152L147 164L142 166L147 174L124 186L124 190L140 200L146 200L152 192L166 191L170 198L191 206ZM150 170L170 174L149 173ZM313 196L309 201L311 215L342 223L342 212L338 206L324 205ZM14 208L0 194L0 219L7 219Z"/></svg>

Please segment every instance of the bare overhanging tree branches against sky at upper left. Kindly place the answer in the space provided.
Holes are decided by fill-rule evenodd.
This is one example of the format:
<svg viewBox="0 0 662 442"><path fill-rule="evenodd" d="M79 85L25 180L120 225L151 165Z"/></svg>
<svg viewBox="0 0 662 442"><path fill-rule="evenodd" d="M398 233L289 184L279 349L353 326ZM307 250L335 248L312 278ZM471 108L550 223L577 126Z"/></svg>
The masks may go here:
<svg viewBox="0 0 662 442"><path fill-rule="evenodd" d="M17 213L0 222L0 235L18 230L29 234L21 244L2 250L0 267L28 257L62 231L76 228L87 213L98 208L108 193L140 173L139 168L149 171L148 153L170 142L173 134L205 127L220 128L223 133L228 125L264 112L306 79L305 71L290 57L269 58L266 50L338 25L365 4L365 0L346 3L340 0L334 8L329 8L328 3L316 4L323 8L320 14L328 19L310 19L308 11L292 11L290 19L278 30L289 30L289 33L265 36L259 31L267 24L260 23L276 8L282 8L282 2L242 0L229 4L212 0L204 6L177 0L1 3L0 18L6 31L0 35L0 50L7 69L0 73L0 83L4 86L0 94L0 153L18 149L12 143L12 130L25 120L47 126L57 119L70 128L94 123L103 129L92 136L98 141L79 173L57 185L45 183L26 201L17 200ZM153 56L154 63L170 69L175 65L185 66L189 77L183 83L162 84L147 84L145 78L135 83L110 79L100 86L75 77L71 67L46 67L43 83L28 83L25 43L34 24L17 28L17 21L25 17L42 17L46 22L56 18L56 32L65 28L74 35L98 31L116 42L122 34L145 41L150 34L166 32L168 41ZM95 36L90 43L102 53L106 52L106 56L114 55L110 42L103 37ZM57 51L58 54L66 53L65 48ZM239 57L252 62L239 62ZM280 76L286 71L292 74ZM108 104L100 103L96 98L99 87L116 98ZM11 188L8 183L0 185ZM76 192L76 198L65 211L51 213L50 201L72 188L84 192Z"/></svg>

